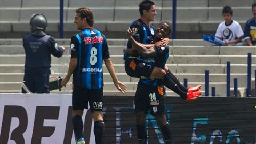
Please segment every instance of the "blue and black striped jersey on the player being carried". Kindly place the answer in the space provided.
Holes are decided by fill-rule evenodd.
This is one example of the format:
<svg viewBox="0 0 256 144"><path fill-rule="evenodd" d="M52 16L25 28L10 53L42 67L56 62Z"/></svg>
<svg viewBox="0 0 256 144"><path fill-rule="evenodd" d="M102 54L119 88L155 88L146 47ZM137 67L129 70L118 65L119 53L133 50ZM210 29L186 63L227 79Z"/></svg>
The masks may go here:
<svg viewBox="0 0 256 144"><path fill-rule="evenodd" d="M135 41L142 44L151 44L156 31L155 27L151 25L147 26L141 19L133 21L130 26L130 29L133 32L133 38L135 39ZM132 44L130 41L128 41L127 43L127 48L132 48ZM129 58L129 56L129 54L124 53L124 59Z"/></svg>

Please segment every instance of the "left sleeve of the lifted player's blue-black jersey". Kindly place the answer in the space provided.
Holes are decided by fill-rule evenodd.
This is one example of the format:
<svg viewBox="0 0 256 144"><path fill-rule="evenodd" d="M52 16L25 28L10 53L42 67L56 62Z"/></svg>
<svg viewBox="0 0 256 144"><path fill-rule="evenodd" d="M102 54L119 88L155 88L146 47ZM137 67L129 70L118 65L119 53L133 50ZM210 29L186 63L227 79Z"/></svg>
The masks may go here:
<svg viewBox="0 0 256 144"><path fill-rule="evenodd" d="M139 25L139 23L135 23L134 25L131 25L130 29L132 30L132 35L135 41L142 43L141 41L143 41L143 29ZM128 41L127 43L127 48L132 48L132 43L130 41Z"/></svg>

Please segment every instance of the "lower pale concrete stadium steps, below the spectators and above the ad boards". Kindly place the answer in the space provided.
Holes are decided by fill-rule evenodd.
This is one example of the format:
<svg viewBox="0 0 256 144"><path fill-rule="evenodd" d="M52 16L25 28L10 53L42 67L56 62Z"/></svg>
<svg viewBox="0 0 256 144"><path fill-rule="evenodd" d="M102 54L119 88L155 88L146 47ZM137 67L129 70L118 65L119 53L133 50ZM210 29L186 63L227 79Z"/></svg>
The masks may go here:
<svg viewBox="0 0 256 144"><path fill-rule="evenodd" d="M110 57L114 63L120 81L128 86L128 95L134 95L137 89L137 78L127 76L124 70L123 48L127 39L107 39ZM25 51L22 39L0 39L0 92L19 93L23 80ZM52 57L50 80L65 76L70 59L70 39L57 39L58 45L64 45L67 50L61 58ZM231 62L231 87L233 78L238 78L240 95L245 95L247 86L247 53L252 53L252 84L255 83L254 70L256 69L256 47L229 47L211 46L201 39L175 39L170 41L170 55L167 66L181 82L188 79L188 85L202 85L204 95L205 70L210 71L209 94L211 87L216 87L216 95L226 95L226 63ZM105 95L121 94L116 90L110 75L103 66ZM252 86L253 87L253 86ZM255 87L255 86L254 86ZM253 88L254 88L253 87ZM70 93L70 86L62 91L52 93ZM177 95L167 89L168 95Z"/></svg>

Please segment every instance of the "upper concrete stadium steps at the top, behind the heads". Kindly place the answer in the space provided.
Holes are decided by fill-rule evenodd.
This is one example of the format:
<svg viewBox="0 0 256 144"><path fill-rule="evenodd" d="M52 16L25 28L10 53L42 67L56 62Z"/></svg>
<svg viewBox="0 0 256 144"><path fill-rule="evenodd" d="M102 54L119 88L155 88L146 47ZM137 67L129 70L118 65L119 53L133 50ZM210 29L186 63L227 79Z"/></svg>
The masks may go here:
<svg viewBox="0 0 256 144"><path fill-rule="evenodd" d="M140 17L140 0L64 0L64 36L70 38L76 32L75 9L90 7L94 11L95 28L103 31L108 38L125 38L125 30L131 21ZM157 16L154 25L160 21L172 22L172 1L155 0ZM234 20L244 27L252 17L251 5L255 0L178 0L177 38L201 38L202 34L215 33L223 21L222 7L233 7ZM59 36L58 0L2 0L0 4L0 38L22 38L29 33L29 19L33 13L44 14L49 26L47 33Z"/></svg>

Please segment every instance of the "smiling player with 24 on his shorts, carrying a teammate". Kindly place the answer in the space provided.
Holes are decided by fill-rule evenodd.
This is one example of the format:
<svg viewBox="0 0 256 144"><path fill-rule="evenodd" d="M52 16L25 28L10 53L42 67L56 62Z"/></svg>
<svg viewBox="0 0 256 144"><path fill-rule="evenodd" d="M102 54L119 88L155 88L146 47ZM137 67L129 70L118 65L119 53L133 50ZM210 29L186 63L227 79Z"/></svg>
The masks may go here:
<svg viewBox="0 0 256 144"><path fill-rule="evenodd" d="M156 29L153 43L159 41L159 39L163 37L168 37L170 32L170 23L161 22ZM147 58L147 61L144 62L153 67L152 69L154 69L154 66L163 69L166 60L169 57L169 47L154 46L153 48L148 49L135 41L132 37L132 31L128 31L128 33L130 34L129 39L134 49L138 50L144 57L149 57ZM145 69L145 71L148 71L149 69ZM165 143L171 143L172 133L170 125L166 121L162 81L157 79L140 79L138 83L134 97L134 112L136 117L137 138L140 144L147 143L145 118L148 110L155 116L158 126L161 127Z"/></svg>

